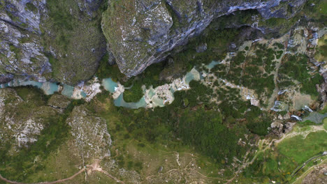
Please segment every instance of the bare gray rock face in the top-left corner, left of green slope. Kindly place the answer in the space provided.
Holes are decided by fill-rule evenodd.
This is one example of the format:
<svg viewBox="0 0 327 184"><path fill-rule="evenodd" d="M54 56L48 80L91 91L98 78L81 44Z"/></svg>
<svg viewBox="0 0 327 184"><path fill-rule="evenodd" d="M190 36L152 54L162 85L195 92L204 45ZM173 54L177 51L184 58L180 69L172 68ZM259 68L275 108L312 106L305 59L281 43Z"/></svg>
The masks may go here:
<svg viewBox="0 0 327 184"><path fill-rule="evenodd" d="M44 6L42 1L34 4ZM0 10L0 82L8 82L13 75L45 81L51 72L37 35L40 15L34 4L29 3L35 8L32 11L27 8L27 1L6 1Z"/></svg>

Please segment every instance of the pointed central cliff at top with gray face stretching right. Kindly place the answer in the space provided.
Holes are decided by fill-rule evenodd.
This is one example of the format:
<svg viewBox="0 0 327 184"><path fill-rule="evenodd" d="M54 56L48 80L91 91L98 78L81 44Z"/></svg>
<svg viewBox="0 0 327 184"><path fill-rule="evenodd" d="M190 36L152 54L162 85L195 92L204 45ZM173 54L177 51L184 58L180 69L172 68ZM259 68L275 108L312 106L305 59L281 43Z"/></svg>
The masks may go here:
<svg viewBox="0 0 327 184"><path fill-rule="evenodd" d="M103 33L119 69L138 75L177 46L203 31L212 20L236 10L256 9L263 18L292 17L305 0L291 1L110 1Z"/></svg>

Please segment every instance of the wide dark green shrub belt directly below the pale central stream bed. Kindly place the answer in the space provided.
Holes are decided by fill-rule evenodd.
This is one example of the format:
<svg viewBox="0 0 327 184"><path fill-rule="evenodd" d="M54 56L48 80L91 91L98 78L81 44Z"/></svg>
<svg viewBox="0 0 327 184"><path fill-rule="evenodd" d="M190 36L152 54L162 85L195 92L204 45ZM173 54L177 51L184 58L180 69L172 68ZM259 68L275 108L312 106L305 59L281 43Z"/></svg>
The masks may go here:
<svg viewBox="0 0 327 184"><path fill-rule="evenodd" d="M126 130L127 134L123 134L124 139L149 141L178 148L179 146L174 147L174 145L179 145L175 138L179 137L182 138L184 144L194 146L197 151L215 158L218 162L224 158L232 160L233 156L240 157L245 153L246 148L238 146L236 143L246 131L244 127L235 124L235 128L228 128L227 124L223 123L221 114L214 109L215 106L208 104L208 97L199 94L194 96L198 91L202 91L202 93L212 91L205 91L208 88L198 82L192 81L190 85L192 86L191 90L177 91L173 104L166 107L157 107L152 111L125 109L110 105L111 113L108 112L108 109L99 115L105 117L109 122L112 122L112 119L117 120L115 128L111 132L122 135L119 131ZM198 87L196 88L196 86ZM108 102L106 96L104 93L97 95L97 100ZM184 106L185 99L189 101L187 107ZM205 102L205 104L201 105L201 102ZM94 109L94 107L91 105L90 109ZM113 114L115 114L115 118L112 118ZM112 127L112 125L109 126ZM140 147L144 146L140 144ZM131 167L131 163L122 162L123 160L126 159L120 158L122 165Z"/></svg>

